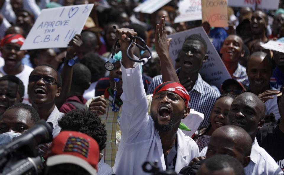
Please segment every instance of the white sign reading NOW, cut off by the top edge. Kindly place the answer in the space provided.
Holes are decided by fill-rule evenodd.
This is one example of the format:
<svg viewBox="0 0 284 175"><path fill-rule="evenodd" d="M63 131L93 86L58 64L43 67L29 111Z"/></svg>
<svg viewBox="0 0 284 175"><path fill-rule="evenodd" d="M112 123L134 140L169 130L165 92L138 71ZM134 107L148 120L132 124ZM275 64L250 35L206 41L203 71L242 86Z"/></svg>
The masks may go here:
<svg viewBox="0 0 284 175"><path fill-rule="evenodd" d="M255 8L257 3L257 8L259 9L278 9L279 0L227 0L228 6L230 7L251 7Z"/></svg>

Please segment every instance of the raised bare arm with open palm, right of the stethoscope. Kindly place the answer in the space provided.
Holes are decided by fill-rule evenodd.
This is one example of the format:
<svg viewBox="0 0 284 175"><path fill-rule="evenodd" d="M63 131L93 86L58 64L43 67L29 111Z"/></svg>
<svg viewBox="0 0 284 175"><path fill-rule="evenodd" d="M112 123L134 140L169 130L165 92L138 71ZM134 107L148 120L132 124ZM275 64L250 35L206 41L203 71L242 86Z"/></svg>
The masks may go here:
<svg viewBox="0 0 284 175"><path fill-rule="evenodd" d="M163 82L166 81L176 81L180 83L178 75L175 72L175 68L172 65L172 59L169 53L170 42L172 38L166 38L166 23L165 15L161 17L160 24L156 25L156 34L155 34L155 47L156 51L161 60L161 71Z"/></svg>

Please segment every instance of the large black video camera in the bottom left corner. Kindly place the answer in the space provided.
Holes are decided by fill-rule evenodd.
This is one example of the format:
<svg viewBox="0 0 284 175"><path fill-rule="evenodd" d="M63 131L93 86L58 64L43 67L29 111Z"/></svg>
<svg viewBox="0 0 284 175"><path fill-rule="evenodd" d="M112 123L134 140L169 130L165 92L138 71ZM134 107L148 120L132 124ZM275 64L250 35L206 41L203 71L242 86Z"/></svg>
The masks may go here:
<svg viewBox="0 0 284 175"><path fill-rule="evenodd" d="M52 128L45 120L12 142L0 146L0 175L37 175L43 169L38 145L52 141Z"/></svg>

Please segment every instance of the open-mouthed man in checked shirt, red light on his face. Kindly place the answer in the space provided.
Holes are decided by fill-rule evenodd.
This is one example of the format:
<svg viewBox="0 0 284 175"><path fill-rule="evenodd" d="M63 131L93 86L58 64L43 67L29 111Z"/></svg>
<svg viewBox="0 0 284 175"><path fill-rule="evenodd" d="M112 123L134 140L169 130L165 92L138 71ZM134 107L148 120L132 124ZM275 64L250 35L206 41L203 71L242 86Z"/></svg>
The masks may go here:
<svg viewBox="0 0 284 175"><path fill-rule="evenodd" d="M249 81L246 75L246 68L239 63L239 58L245 55L241 37L238 35L229 35L225 39L220 53L222 54L222 61L232 76L232 79L248 86Z"/></svg>

